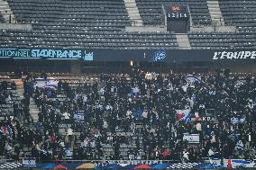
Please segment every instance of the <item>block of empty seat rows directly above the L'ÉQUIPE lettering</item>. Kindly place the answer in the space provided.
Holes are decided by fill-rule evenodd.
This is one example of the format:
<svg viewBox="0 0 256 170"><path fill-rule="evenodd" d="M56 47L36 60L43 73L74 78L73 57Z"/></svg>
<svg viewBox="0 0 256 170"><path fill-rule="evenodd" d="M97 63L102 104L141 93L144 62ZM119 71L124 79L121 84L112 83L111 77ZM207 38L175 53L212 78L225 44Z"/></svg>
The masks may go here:
<svg viewBox="0 0 256 170"><path fill-rule="evenodd" d="M253 49L253 33L198 32L188 34L193 49Z"/></svg>

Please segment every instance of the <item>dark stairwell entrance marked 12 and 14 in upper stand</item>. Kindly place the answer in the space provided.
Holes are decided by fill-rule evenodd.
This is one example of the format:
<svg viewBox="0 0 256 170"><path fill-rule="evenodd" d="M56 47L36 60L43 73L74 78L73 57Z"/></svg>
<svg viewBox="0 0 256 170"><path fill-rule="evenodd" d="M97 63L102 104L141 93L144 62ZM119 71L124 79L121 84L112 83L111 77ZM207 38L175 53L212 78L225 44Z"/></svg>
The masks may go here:
<svg viewBox="0 0 256 170"><path fill-rule="evenodd" d="M190 15L187 4L163 4L162 15L167 31L186 33L190 29Z"/></svg>

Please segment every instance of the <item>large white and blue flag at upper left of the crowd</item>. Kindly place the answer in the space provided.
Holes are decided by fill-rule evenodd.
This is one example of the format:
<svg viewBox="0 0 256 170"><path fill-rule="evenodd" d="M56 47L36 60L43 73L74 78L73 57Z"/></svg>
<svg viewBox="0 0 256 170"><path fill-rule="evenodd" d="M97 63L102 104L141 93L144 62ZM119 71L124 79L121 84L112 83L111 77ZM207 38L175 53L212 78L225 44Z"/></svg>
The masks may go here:
<svg viewBox="0 0 256 170"><path fill-rule="evenodd" d="M43 78L36 78L35 83L34 83L34 89L36 87L38 88L53 88L57 89L58 88L58 79L43 79Z"/></svg>

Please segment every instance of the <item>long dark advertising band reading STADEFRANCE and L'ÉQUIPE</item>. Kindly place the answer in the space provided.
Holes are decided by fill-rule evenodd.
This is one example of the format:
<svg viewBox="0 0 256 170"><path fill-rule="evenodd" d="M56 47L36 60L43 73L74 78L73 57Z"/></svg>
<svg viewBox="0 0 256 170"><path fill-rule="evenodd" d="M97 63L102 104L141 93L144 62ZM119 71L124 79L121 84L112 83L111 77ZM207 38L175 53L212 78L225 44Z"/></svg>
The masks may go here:
<svg viewBox="0 0 256 170"><path fill-rule="evenodd" d="M250 49L0 49L0 58L78 59L81 61L143 62L256 62L256 51Z"/></svg>

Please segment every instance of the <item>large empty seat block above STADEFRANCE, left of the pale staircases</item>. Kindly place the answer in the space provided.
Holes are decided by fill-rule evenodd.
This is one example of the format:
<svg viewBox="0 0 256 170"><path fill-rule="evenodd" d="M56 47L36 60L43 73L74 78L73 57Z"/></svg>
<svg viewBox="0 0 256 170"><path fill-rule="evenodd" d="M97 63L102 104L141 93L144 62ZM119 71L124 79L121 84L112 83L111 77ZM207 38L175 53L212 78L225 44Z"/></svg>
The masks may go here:
<svg viewBox="0 0 256 170"><path fill-rule="evenodd" d="M121 31L131 25L123 1L8 2L17 20L32 23L34 30L11 31L12 37L2 31L3 38L12 39L3 41L2 47L14 44L17 47L78 49L178 49L171 33ZM24 37L19 40L16 36L21 34Z"/></svg>

